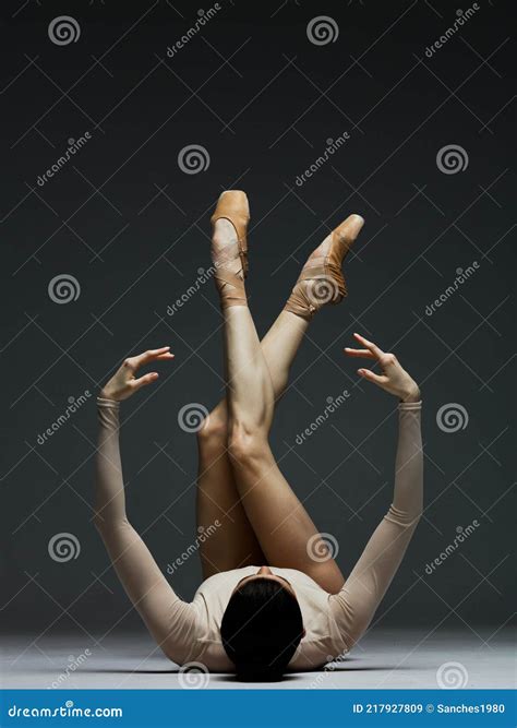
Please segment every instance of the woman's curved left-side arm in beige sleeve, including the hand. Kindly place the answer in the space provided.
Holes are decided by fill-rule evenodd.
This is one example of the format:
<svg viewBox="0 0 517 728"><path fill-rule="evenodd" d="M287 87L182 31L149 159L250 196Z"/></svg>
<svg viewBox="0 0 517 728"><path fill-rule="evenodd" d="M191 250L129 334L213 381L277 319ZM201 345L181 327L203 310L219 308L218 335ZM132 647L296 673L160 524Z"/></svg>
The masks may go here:
<svg viewBox="0 0 517 728"><path fill-rule="evenodd" d="M164 653L175 663L187 660L195 630L193 605L172 590L142 538L128 521L119 447L120 402L151 384L152 372L134 378L137 368L171 359L168 347L127 359L97 397L98 446L95 478L95 525L112 565L134 607Z"/></svg>

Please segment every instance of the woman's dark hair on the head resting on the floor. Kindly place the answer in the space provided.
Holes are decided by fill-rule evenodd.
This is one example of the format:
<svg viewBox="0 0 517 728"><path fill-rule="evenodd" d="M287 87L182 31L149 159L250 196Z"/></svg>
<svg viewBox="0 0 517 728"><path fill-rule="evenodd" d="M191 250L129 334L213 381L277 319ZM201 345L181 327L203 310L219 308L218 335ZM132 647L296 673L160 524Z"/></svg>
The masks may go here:
<svg viewBox="0 0 517 728"><path fill-rule="evenodd" d="M240 680L279 680L303 636L298 599L270 578L254 578L232 594L220 635Z"/></svg>

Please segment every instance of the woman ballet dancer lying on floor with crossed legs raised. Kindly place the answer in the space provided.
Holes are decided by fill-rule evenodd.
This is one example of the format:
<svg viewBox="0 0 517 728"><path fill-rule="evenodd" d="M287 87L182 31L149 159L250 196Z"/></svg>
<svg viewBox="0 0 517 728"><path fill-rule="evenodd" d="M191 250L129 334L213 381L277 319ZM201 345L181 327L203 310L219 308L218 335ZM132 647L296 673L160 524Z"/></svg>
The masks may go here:
<svg viewBox="0 0 517 728"><path fill-rule="evenodd" d="M171 660L269 681L323 667L351 649L371 622L422 512L421 401L395 356L354 334L361 348L345 351L380 363L380 374L358 373L398 397L399 438L393 502L345 580L332 554L314 559L325 541L280 473L268 432L311 319L346 296L341 263L363 219L351 215L316 248L262 342L244 288L248 222L245 194L224 192L212 217L212 258L227 391L199 432L197 530L211 536L201 546L204 581L193 600L175 594L128 521L119 450L120 402L157 379L136 372L171 359L169 347L127 359L97 398L95 511L125 592Z"/></svg>

